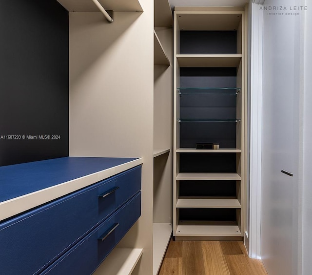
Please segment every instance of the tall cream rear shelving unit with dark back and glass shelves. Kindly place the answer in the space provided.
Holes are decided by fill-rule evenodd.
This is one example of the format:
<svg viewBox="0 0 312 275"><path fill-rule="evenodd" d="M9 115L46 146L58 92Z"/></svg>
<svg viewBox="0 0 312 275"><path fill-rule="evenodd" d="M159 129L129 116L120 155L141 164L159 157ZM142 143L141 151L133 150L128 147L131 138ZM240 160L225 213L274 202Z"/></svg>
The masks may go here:
<svg viewBox="0 0 312 275"><path fill-rule="evenodd" d="M176 7L174 20L173 234L242 239L245 8ZM196 143L220 149L195 149Z"/></svg>

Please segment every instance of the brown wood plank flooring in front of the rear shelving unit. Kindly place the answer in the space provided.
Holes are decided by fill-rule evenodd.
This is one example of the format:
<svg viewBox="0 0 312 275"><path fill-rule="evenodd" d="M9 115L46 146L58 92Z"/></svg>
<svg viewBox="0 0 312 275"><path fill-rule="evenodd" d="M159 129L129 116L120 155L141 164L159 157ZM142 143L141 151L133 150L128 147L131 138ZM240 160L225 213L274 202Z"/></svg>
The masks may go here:
<svg viewBox="0 0 312 275"><path fill-rule="evenodd" d="M243 242L171 240L158 275L268 275Z"/></svg>

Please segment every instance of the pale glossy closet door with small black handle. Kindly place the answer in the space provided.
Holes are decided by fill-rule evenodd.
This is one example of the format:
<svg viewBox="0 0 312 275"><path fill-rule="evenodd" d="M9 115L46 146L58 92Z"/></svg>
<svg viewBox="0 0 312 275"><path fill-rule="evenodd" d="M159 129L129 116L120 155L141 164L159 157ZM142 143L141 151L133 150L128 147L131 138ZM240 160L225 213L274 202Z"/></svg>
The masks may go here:
<svg viewBox="0 0 312 275"><path fill-rule="evenodd" d="M294 17L264 14L261 258L270 275L297 274L298 33Z"/></svg>

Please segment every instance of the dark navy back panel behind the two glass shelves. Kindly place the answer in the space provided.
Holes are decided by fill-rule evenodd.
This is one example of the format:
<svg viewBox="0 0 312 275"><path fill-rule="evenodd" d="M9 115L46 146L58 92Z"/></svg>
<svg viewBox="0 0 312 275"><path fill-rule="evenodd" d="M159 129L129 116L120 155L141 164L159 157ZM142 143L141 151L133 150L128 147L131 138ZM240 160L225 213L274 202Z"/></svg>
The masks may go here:
<svg viewBox="0 0 312 275"><path fill-rule="evenodd" d="M180 68L181 87L235 87L236 68ZM233 90L228 90L233 92ZM182 95L181 118L236 118L235 95ZM220 148L236 147L233 122L180 123L180 147L195 148L196 143L212 142ZM234 163L236 161L234 160Z"/></svg>

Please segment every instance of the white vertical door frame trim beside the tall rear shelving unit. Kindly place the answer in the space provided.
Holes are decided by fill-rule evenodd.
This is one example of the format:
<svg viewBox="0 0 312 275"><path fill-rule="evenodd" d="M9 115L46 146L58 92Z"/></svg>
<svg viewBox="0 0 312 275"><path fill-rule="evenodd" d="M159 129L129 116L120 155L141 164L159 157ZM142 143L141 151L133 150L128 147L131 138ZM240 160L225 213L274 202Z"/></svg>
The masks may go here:
<svg viewBox="0 0 312 275"><path fill-rule="evenodd" d="M251 257L260 257L261 137L262 137L262 36L263 12L250 3L250 176L247 184L250 211L247 233Z"/></svg>

